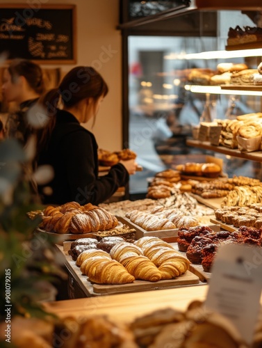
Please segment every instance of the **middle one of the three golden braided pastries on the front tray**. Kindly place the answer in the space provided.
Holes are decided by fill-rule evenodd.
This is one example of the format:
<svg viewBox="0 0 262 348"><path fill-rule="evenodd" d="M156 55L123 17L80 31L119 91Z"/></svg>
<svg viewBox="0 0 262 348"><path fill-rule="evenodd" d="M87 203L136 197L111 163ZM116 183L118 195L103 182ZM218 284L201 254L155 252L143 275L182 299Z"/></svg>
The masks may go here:
<svg viewBox="0 0 262 348"><path fill-rule="evenodd" d="M110 256L120 262L136 279L156 282L161 280L161 272L142 250L130 243L122 242L113 246Z"/></svg>

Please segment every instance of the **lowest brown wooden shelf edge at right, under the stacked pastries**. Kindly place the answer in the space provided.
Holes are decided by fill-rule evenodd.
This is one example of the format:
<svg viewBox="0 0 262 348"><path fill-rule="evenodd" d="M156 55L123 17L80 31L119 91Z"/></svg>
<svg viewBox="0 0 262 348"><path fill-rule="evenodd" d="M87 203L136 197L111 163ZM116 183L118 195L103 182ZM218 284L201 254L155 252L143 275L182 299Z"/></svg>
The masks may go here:
<svg viewBox="0 0 262 348"><path fill-rule="evenodd" d="M186 144L188 146L193 146L194 148L202 148L204 150L211 150L214 152L219 152L224 155L230 155L234 157L239 157L243 159L249 159L252 161L262 162L262 152L240 152L237 149L225 148L224 146L214 146L211 145L208 141L198 141L198 140L187 140Z"/></svg>

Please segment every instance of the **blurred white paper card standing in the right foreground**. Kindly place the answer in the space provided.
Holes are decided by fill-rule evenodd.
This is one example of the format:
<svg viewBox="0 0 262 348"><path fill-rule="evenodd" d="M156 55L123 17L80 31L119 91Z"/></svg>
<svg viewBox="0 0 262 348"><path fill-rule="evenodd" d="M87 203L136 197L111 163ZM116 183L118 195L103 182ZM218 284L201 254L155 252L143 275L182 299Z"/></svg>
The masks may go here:
<svg viewBox="0 0 262 348"><path fill-rule="evenodd" d="M262 248L224 244L212 267L206 307L233 322L243 339L252 342L262 287Z"/></svg>

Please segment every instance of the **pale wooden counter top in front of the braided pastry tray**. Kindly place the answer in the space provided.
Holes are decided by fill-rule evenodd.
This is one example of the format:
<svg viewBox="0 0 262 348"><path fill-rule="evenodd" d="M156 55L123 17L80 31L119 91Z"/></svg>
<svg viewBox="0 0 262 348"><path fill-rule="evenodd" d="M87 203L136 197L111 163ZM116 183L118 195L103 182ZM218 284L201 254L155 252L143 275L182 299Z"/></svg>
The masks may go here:
<svg viewBox="0 0 262 348"><path fill-rule="evenodd" d="M44 303L44 307L60 317L108 315L110 319L120 322L132 322L154 310L171 307L186 310L193 300L204 301L208 285L179 287L176 289L149 292L132 292L110 296L89 297Z"/></svg>

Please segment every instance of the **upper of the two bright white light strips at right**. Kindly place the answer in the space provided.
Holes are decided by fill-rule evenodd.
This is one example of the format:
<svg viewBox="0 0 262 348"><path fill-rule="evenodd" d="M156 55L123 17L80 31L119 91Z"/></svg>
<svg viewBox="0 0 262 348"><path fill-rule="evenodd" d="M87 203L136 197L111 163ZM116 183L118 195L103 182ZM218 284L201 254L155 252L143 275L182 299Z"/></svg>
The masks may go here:
<svg viewBox="0 0 262 348"><path fill-rule="evenodd" d="M200 53L171 53L165 59L229 59L262 56L262 49L238 49L236 51L209 51Z"/></svg>

